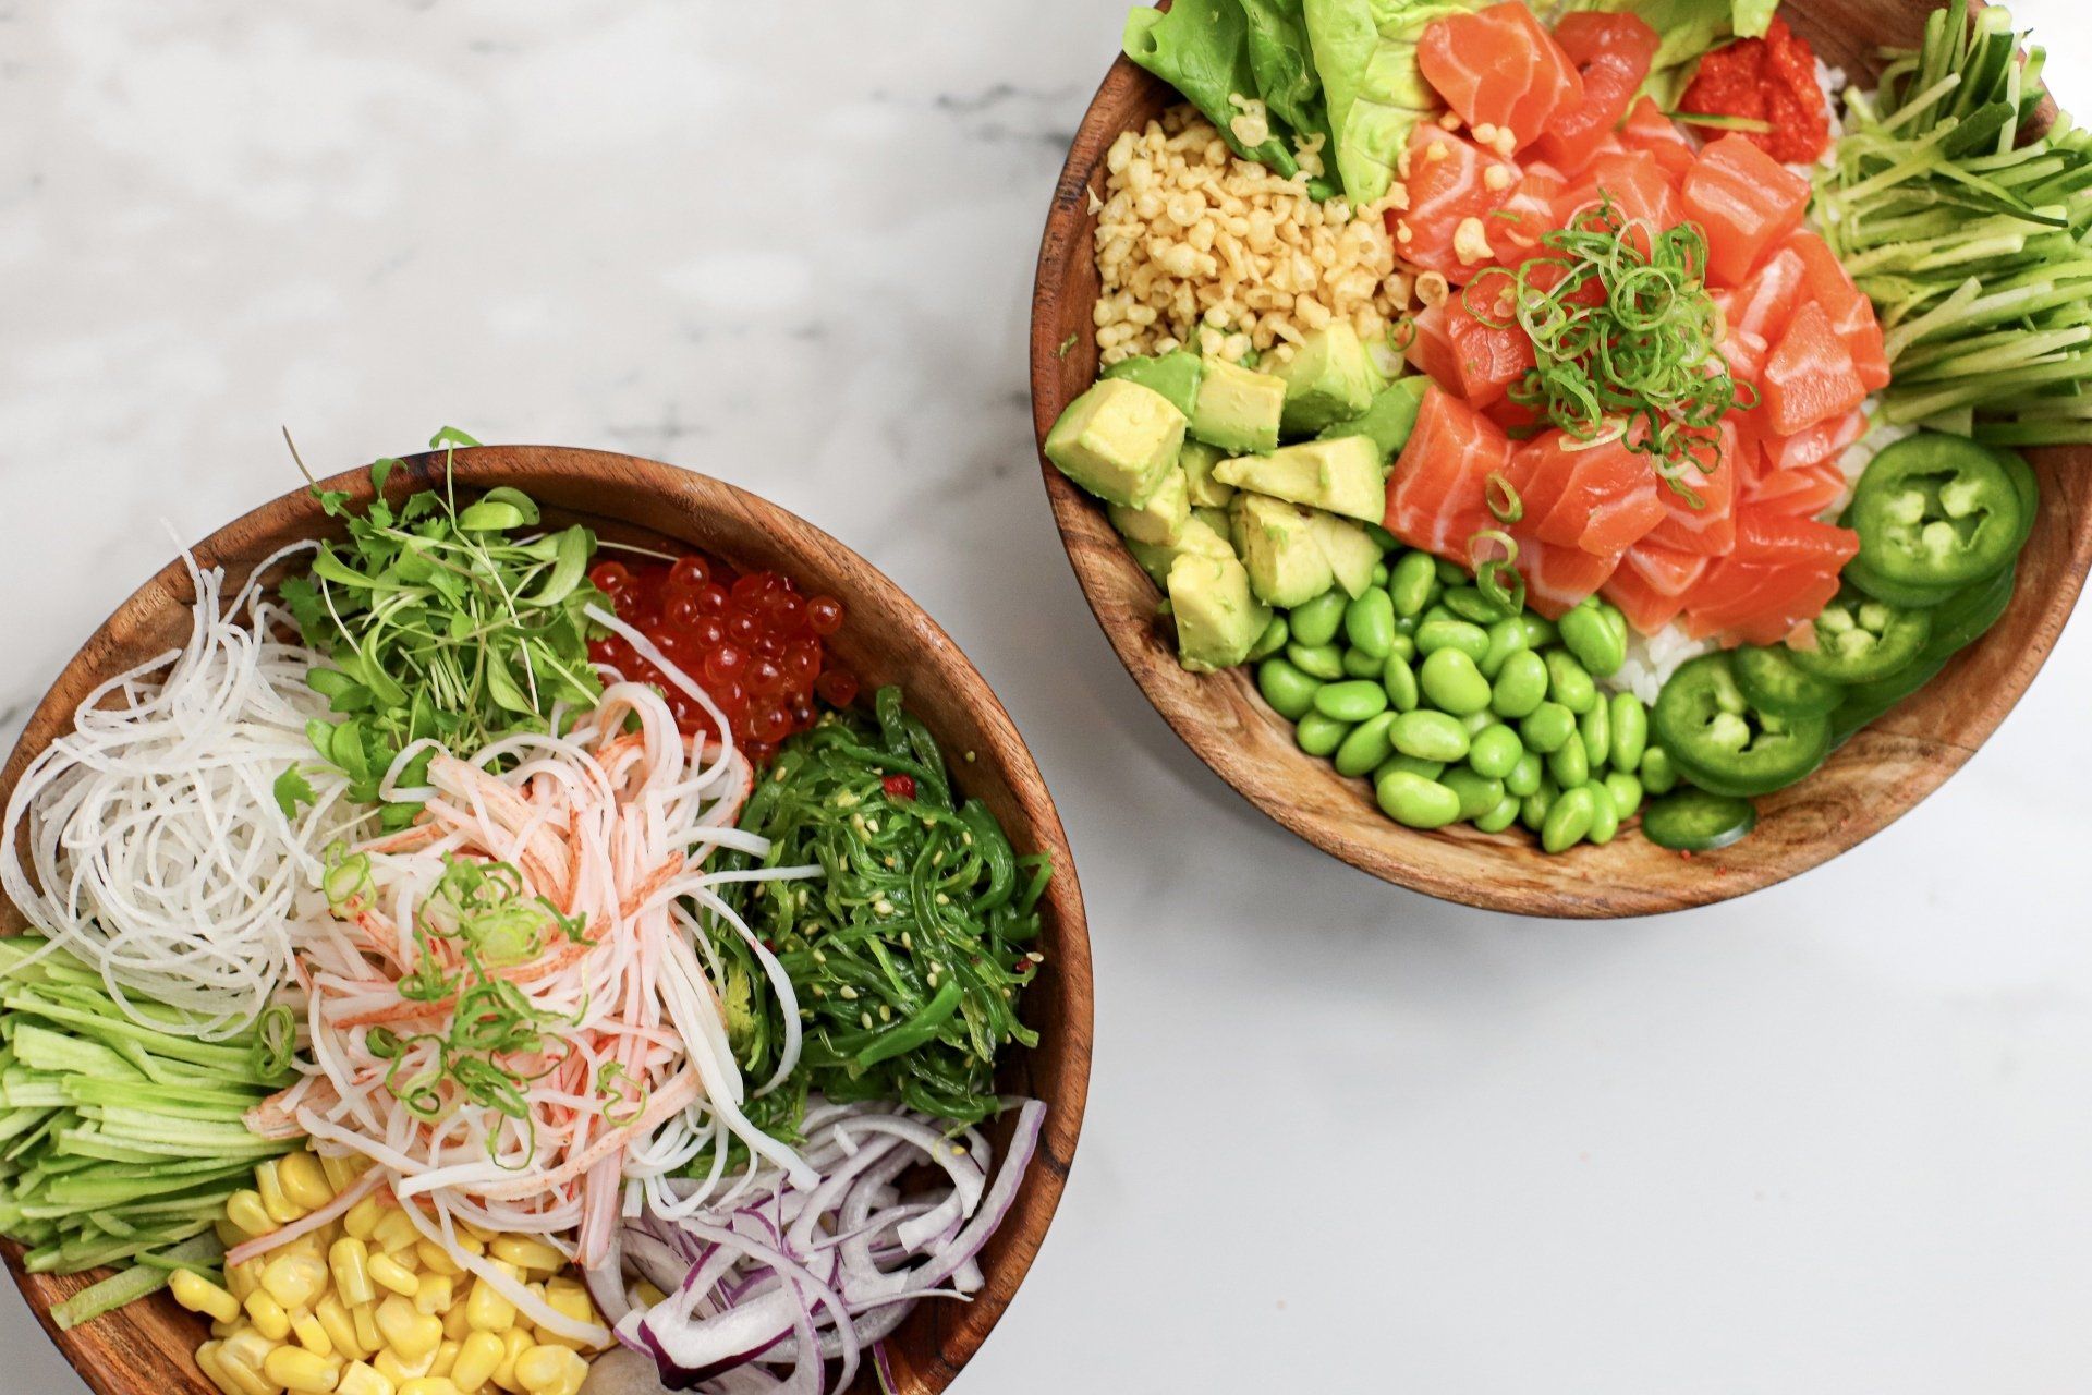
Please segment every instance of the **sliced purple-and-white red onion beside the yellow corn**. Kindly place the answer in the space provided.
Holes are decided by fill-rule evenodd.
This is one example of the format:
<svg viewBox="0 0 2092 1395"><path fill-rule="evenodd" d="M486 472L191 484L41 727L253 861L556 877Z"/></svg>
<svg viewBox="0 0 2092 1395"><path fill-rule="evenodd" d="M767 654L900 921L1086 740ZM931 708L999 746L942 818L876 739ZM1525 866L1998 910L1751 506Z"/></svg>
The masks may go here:
<svg viewBox="0 0 2092 1395"><path fill-rule="evenodd" d="M1038 1100L1015 1104L1010 1150L990 1180L977 1129L954 1138L912 1111L814 1100L799 1150L820 1173L812 1184L768 1169L732 1207L628 1221L628 1267L669 1297L623 1313L617 1336L672 1389L822 1395L824 1362L837 1362L843 1389L864 1347L891 1385L879 1343L916 1301L964 1299L983 1282L975 1257L1015 1205L1046 1117ZM920 1163L948 1186L902 1194L897 1180Z"/></svg>

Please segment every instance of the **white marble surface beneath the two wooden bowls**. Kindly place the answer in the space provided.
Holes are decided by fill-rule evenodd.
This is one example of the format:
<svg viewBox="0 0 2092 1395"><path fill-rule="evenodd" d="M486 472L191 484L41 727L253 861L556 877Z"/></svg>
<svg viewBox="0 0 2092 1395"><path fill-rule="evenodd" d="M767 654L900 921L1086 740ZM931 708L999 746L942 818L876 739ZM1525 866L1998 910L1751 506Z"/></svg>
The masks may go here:
<svg viewBox="0 0 2092 1395"><path fill-rule="evenodd" d="M295 483L278 422L703 468L952 630L1082 860L1090 1123L967 1391L2086 1389L2092 627L1923 809L1718 910L1519 922L1291 841L1113 661L1031 454L1121 8L0 0L0 738L163 519ZM2092 21L2019 10L2069 98ZM0 1349L79 1389L13 1295Z"/></svg>

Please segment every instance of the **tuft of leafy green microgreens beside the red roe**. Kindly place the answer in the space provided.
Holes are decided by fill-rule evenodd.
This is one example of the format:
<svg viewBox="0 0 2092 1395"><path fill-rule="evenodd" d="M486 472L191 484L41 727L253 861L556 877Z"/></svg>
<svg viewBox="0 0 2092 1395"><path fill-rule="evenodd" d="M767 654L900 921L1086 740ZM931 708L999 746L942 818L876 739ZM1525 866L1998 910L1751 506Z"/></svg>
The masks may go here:
<svg viewBox="0 0 2092 1395"><path fill-rule="evenodd" d="M429 445L444 448L444 485L397 508L385 500L395 458L370 466L377 498L362 514L345 491L314 485L347 540L320 544L280 594L305 642L328 659L310 684L339 722L305 730L320 757L349 776L351 799L377 803L385 772L418 740L471 757L513 732L550 730L556 709L594 707L602 694L588 661L600 627L584 615L607 604L588 581L596 538L579 525L540 531L538 504L506 485L460 506L452 458L477 443L454 427L437 431ZM431 755L410 759L400 782L420 784ZM289 770L276 799L289 814L312 786ZM383 822L402 828L414 814L416 805L391 803Z"/></svg>

